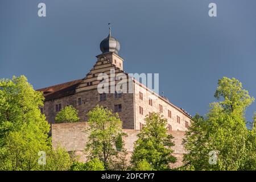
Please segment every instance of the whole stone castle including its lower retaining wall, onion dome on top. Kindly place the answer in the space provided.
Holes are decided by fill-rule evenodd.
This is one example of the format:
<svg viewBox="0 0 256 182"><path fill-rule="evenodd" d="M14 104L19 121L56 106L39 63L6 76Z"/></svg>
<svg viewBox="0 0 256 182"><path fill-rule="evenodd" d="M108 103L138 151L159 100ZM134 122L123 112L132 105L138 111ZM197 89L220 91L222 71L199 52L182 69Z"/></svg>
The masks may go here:
<svg viewBox="0 0 256 182"><path fill-rule="evenodd" d="M145 123L144 117L156 112L167 119L166 127L174 137L173 155L176 156L177 162L171 164L171 167L181 166L185 153L182 139L191 123L191 115L123 71L123 59L118 55L120 44L113 38L110 29L108 37L102 40L100 49L102 53L96 56L97 61L85 78L38 89L45 97L44 107L40 109L51 124L53 147L61 144L67 151L75 151L76 155L81 156L80 161L85 162L83 151L88 140L88 133L85 133L88 126L86 113L96 105L102 105L118 113L123 122L123 132L127 134L124 143L129 154L127 157L130 158L137 134ZM105 77L101 76L102 73ZM122 79L117 79L120 75ZM127 83L128 88L120 88L113 93L100 93L98 90L102 83L108 84L108 89L110 87L111 90L113 84L117 86L120 82ZM128 92L130 88L133 92ZM56 114L68 105L79 111L80 122L55 124Z"/></svg>

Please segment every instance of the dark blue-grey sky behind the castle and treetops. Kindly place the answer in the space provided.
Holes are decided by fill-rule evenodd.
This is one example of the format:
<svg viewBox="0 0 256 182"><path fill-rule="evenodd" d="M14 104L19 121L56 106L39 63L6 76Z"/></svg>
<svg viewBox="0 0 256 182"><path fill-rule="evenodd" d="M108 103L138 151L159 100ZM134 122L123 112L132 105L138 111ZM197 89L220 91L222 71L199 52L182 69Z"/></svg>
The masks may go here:
<svg viewBox="0 0 256 182"><path fill-rule="evenodd" d="M0 78L25 75L35 89L83 78L112 22L125 71L159 73L160 93L204 115L223 76L256 97L255 9L255 0L0 0Z"/></svg>

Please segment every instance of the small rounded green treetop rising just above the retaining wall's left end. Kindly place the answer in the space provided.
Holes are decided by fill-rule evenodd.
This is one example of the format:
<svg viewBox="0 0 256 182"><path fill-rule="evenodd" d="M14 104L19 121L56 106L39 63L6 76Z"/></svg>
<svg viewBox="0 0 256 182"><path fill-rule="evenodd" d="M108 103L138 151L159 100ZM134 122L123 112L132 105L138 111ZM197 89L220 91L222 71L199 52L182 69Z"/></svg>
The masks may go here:
<svg viewBox="0 0 256 182"><path fill-rule="evenodd" d="M72 123L77 121L79 121L78 111L73 106L67 106L64 109L61 109L55 118L56 123Z"/></svg>

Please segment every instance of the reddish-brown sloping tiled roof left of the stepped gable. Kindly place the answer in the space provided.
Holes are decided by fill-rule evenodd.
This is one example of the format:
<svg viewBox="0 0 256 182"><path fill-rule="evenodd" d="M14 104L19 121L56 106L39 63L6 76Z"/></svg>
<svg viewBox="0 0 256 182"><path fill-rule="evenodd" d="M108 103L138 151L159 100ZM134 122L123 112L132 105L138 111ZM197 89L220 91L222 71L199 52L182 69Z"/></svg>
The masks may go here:
<svg viewBox="0 0 256 182"><path fill-rule="evenodd" d="M80 84L80 80L73 80L69 82L65 82L63 84L48 86L46 88L38 89L36 91L43 92L45 101L49 101L52 99L69 96L70 94L74 94L76 87Z"/></svg>

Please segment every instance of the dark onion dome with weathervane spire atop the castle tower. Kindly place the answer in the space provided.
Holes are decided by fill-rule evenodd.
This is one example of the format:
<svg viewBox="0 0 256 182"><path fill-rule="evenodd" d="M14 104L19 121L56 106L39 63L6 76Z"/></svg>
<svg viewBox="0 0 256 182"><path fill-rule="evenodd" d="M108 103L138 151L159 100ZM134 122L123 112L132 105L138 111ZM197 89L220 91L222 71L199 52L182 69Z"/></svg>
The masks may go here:
<svg viewBox="0 0 256 182"><path fill-rule="evenodd" d="M118 40L113 38L113 36L111 35L110 24L111 23L108 23L108 25L109 25L109 36L101 41L100 49L101 49L102 53L114 52L114 53L118 54L118 51L120 49L120 44L119 44Z"/></svg>

